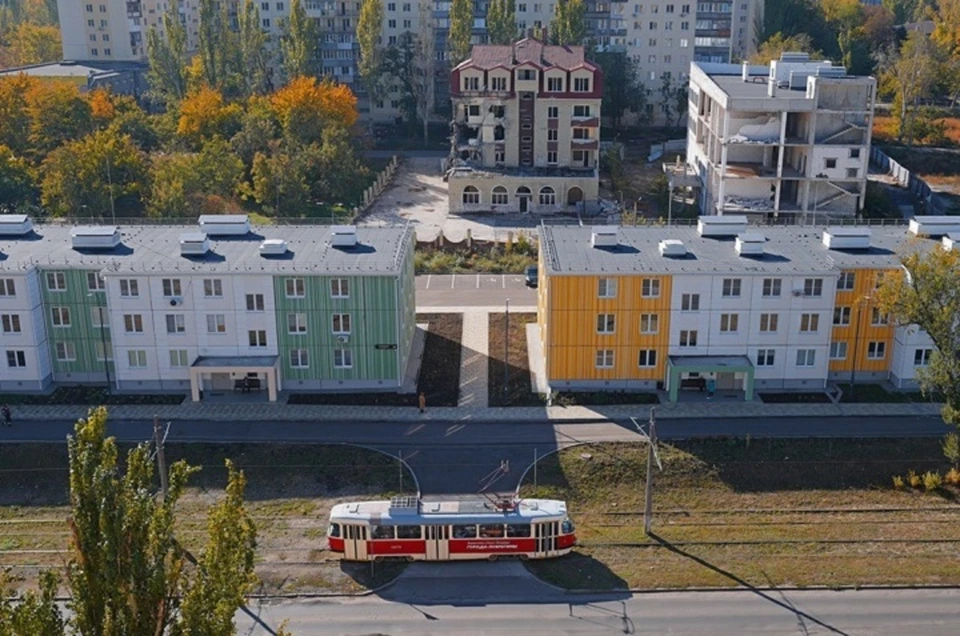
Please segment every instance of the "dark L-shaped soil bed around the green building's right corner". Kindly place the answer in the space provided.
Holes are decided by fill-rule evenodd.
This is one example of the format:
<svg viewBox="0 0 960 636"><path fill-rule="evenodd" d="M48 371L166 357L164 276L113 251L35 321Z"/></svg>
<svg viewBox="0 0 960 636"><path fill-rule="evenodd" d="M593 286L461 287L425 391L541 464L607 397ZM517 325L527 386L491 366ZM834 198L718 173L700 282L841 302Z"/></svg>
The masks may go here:
<svg viewBox="0 0 960 636"><path fill-rule="evenodd" d="M348 404L367 406L417 406L426 394L427 406L456 406L460 393L462 314L418 314L418 323L430 323L424 343L417 393L294 393L290 404Z"/></svg>

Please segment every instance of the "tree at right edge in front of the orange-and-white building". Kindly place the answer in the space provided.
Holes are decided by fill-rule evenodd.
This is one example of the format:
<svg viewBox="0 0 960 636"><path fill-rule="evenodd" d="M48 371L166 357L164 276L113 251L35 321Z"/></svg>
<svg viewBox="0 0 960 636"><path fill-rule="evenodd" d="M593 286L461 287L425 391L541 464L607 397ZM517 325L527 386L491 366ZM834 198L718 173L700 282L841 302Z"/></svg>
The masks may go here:
<svg viewBox="0 0 960 636"><path fill-rule="evenodd" d="M917 325L936 347L917 369L925 392L943 396L943 421L960 431L960 252L940 246L901 257L903 270L884 277L877 304L901 326Z"/></svg>

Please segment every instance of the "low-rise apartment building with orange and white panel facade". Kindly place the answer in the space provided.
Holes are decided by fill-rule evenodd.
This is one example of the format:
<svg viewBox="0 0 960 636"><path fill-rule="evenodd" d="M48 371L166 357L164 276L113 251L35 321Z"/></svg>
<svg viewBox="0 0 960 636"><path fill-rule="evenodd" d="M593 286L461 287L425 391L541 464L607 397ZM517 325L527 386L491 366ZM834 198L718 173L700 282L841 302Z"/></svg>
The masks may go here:
<svg viewBox="0 0 960 636"><path fill-rule="evenodd" d="M904 226L540 229L538 324L551 389L717 391L915 383L932 344L872 291L908 245L943 249L960 219ZM952 219L952 220L949 220ZM929 221L937 220L937 224ZM931 230L930 228L934 229Z"/></svg>

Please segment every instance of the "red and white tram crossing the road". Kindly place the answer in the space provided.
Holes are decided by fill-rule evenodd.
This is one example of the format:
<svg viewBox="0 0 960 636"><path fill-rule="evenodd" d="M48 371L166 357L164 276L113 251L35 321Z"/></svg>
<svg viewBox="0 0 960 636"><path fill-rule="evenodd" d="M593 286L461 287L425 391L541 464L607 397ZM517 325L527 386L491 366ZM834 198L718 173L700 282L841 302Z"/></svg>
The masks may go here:
<svg viewBox="0 0 960 636"><path fill-rule="evenodd" d="M576 541L567 504L552 499L344 503L330 511L327 530L330 550L347 561L546 559Z"/></svg>

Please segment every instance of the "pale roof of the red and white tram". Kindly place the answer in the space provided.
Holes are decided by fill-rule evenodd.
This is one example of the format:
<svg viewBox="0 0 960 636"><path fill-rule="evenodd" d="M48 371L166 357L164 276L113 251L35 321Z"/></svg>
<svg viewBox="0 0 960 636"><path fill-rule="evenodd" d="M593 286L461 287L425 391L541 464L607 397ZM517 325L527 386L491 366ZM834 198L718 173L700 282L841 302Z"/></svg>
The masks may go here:
<svg viewBox="0 0 960 636"><path fill-rule="evenodd" d="M471 524L535 521L566 516L567 504L556 499L521 499L511 510L497 510L486 499L427 501L419 507L391 507L389 501L355 501L337 504L331 521L369 521L374 525Z"/></svg>

